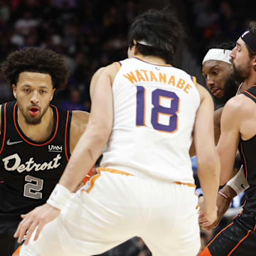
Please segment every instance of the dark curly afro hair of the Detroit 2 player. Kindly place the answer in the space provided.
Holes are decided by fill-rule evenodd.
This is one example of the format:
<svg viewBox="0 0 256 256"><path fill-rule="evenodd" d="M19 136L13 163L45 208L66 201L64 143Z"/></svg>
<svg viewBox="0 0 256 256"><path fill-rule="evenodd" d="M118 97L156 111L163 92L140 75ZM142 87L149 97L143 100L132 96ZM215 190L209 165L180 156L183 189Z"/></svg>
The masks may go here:
<svg viewBox="0 0 256 256"><path fill-rule="evenodd" d="M63 57L53 50L39 47L23 48L10 53L0 69L9 85L16 85L18 75L26 71L49 74L56 90L63 90L69 78Z"/></svg>

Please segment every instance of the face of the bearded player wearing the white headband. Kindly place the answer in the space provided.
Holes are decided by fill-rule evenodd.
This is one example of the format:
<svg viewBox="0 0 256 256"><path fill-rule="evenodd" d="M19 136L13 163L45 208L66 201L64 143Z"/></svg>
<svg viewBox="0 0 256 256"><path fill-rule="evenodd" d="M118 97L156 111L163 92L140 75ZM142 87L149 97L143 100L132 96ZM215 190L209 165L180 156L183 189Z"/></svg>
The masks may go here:
<svg viewBox="0 0 256 256"><path fill-rule="evenodd" d="M207 60L203 63L202 73L206 85L216 98L221 98L225 92L225 82L230 77L231 65L220 60Z"/></svg>

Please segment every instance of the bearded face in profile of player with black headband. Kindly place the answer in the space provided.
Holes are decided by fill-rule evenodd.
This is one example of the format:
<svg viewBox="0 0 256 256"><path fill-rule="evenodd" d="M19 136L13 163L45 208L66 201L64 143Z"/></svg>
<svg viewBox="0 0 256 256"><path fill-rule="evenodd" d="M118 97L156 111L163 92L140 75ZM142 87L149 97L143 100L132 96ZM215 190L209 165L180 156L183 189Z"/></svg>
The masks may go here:
<svg viewBox="0 0 256 256"><path fill-rule="evenodd" d="M238 39L235 48L230 53L232 63L232 75L238 82L243 82L250 76L251 59L245 42Z"/></svg>

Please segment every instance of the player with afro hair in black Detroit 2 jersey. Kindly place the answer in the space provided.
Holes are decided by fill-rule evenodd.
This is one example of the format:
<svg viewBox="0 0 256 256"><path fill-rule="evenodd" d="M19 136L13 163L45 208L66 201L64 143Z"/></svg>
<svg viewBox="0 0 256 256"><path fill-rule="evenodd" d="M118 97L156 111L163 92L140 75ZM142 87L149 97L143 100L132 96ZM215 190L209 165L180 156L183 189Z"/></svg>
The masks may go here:
<svg viewBox="0 0 256 256"><path fill-rule="evenodd" d="M21 214L46 203L89 114L50 105L69 76L52 50L17 50L2 63L1 75L16 98L0 106L0 255L10 256Z"/></svg>

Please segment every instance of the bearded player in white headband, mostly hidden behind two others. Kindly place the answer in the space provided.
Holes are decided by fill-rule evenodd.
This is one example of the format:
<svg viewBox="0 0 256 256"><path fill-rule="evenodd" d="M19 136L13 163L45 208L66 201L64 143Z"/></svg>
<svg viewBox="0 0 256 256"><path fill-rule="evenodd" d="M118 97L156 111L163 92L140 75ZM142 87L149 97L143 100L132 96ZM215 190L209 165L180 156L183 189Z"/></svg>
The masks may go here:
<svg viewBox="0 0 256 256"><path fill-rule="evenodd" d="M206 85L209 90L213 92L213 98L218 108L218 110L215 110L214 112L214 134L216 144L220 138L220 117L223 111L223 105L238 92L238 82L235 81L230 71L230 53L234 47L235 43L233 42L221 43L214 48L210 48L203 58L202 73L206 78ZM239 156L240 154L237 155L235 161L234 168L236 171L241 167ZM218 223L220 223L220 219L228 210L231 200L248 188L248 186L243 170L241 169L238 174L219 191L217 196L217 219L210 227L206 228L207 230L217 227ZM202 200L203 197L200 197L200 204ZM199 218L199 223L201 223L201 218Z"/></svg>

